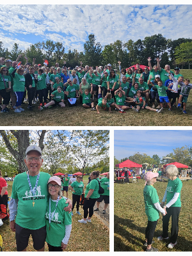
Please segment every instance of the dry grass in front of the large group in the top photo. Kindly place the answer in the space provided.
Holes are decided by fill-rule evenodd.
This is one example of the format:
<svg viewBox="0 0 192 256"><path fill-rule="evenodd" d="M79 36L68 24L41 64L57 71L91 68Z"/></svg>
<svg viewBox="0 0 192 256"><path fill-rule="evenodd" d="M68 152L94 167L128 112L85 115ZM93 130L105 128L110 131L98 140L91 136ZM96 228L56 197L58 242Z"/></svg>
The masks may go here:
<svg viewBox="0 0 192 256"><path fill-rule="evenodd" d="M192 70L180 70L180 74L184 78L189 78L192 83ZM180 109L173 108L170 113L165 108L163 113L155 113L147 109L141 109L139 113L133 112L131 109L125 111L124 114L113 110L113 113L101 109L100 114L97 111L84 109L77 103L77 107L64 109L60 107L38 110L38 106L29 111L28 104L22 105L25 109L22 113L1 113L1 125L18 125L18 126L189 126L192 124L192 92L189 94L186 107L187 115L184 115ZM96 105L95 105L96 106Z"/></svg>

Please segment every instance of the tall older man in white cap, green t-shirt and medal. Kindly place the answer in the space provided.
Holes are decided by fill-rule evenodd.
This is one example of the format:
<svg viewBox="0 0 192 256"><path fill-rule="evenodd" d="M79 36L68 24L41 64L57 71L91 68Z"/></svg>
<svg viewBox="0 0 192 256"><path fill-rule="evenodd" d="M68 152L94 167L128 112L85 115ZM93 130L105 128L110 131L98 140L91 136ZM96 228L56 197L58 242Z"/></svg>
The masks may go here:
<svg viewBox="0 0 192 256"><path fill-rule="evenodd" d="M47 182L51 176L49 173L40 172L43 163L40 147L30 145L26 148L24 162L28 172L19 173L13 181L12 198L9 204L10 228L15 232L18 252L26 252L30 234L35 250L44 252L45 212L49 197ZM70 211L72 204L70 201L67 203L70 205L65 211Z"/></svg>

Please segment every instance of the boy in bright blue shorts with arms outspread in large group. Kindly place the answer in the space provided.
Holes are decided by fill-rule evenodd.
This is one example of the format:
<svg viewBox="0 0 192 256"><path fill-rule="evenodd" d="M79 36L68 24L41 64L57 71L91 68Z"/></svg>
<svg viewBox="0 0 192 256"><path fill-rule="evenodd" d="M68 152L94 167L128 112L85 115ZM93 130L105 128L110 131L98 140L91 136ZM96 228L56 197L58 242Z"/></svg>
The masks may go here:
<svg viewBox="0 0 192 256"><path fill-rule="evenodd" d="M152 76L150 76L150 79L152 78ZM169 91L173 91L175 92L173 89L170 89L166 86L163 85L163 82L160 80L157 82L158 85L155 85L155 84L151 84L152 86L154 86L155 88L157 88L157 91L158 91L158 94L159 94L159 100L160 100L160 103L161 103L161 108L163 108L163 102L165 101L168 106L170 107L168 110L172 111L172 106L171 106L171 103L168 99L168 95L166 93L166 90L169 90Z"/></svg>

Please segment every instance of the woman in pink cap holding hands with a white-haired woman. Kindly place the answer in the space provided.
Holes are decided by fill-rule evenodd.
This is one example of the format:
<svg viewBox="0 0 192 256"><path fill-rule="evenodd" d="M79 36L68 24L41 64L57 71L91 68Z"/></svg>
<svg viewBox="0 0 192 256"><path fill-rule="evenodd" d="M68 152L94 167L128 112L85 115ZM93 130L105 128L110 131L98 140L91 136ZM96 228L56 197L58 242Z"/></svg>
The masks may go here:
<svg viewBox="0 0 192 256"><path fill-rule="evenodd" d="M152 241L154 237L154 232L157 226L157 220L159 219L159 211L162 212L163 215L166 214L166 211L161 208L159 204L159 197L157 195L157 190L154 188L154 183L156 182L156 178L159 173L147 172L144 175L145 188L143 189L143 196L145 201L145 213L147 214L148 223L147 228L145 230L145 246L146 252L157 252L158 249L152 247Z"/></svg>

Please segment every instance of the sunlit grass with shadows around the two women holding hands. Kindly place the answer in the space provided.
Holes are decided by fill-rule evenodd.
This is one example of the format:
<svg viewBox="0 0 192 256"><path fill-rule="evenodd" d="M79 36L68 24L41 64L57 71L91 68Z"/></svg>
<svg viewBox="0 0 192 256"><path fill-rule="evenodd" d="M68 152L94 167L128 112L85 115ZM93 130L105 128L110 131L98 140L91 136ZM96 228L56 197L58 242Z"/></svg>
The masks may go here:
<svg viewBox="0 0 192 256"><path fill-rule="evenodd" d="M145 180L129 184L116 184L114 188L114 243L115 252L144 252L145 228L147 227L147 215L143 200L143 188ZM162 217L157 222L154 233L154 247L159 252L191 252L192 251L192 218L191 218L191 185L192 180L183 181L181 190L181 211L179 215L179 236L177 245L168 249L168 241L157 241L162 232ZM156 182L159 200L163 199L167 182ZM171 220L169 225L169 235Z"/></svg>

